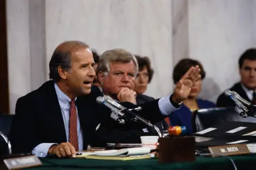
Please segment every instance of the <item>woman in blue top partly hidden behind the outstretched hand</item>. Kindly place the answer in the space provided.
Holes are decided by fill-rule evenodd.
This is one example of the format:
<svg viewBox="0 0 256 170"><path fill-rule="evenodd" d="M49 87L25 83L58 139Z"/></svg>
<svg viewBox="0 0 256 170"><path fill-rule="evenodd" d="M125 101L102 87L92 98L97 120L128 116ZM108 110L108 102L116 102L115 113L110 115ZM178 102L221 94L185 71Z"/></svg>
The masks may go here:
<svg viewBox="0 0 256 170"><path fill-rule="evenodd" d="M178 83L189 68L196 65L201 69L201 79L199 79L191 88L190 94L188 98L183 101L181 108L169 116L170 125L186 126L187 134L193 133L191 117L195 110L216 107L214 103L198 98L198 94L201 91L202 80L205 78L205 70L199 61L192 59L180 60L173 70L173 82L174 84Z"/></svg>

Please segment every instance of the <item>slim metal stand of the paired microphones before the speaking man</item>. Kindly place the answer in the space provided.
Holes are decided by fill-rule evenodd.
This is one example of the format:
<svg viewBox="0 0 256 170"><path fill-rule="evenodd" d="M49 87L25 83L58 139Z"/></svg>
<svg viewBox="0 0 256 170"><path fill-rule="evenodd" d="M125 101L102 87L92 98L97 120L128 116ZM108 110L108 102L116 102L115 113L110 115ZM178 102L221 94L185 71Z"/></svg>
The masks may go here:
<svg viewBox="0 0 256 170"><path fill-rule="evenodd" d="M132 119L134 119L134 122L136 122L137 120L140 120L140 122L146 124L147 126L153 127L153 128L155 129L155 131L157 132L157 135L158 135L159 137L163 137L161 131L159 130L159 128L158 128L156 125L151 124L151 122L150 122L149 120L146 120L146 119L140 117L139 115L135 114L135 113L132 111L132 110L136 110L136 111L137 111L137 110L141 110L141 109L142 109L141 107L138 107L138 108L134 108L134 109L122 109L122 110L120 110L120 111L127 112L127 114L132 115L132 116L134 117L134 118L132 118ZM132 119L131 119L131 120L132 120Z"/></svg>

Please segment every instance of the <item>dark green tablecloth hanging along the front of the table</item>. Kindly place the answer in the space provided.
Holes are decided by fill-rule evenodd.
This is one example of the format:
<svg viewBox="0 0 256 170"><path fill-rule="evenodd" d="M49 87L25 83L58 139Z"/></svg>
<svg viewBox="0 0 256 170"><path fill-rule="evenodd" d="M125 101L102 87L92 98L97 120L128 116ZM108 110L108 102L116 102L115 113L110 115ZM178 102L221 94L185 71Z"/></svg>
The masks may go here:
<svg viewBox="0 0 256 170"><path fill-rule="evenodd" d="M237 169L256 169L256 155L230 156ZM158 159L141 160L93 160L85 158L50 159L42 158L43 165L27 168L30 170L45 169L235 169L228 158L199 156L196 161L181 163L158 163Z"/></svg>

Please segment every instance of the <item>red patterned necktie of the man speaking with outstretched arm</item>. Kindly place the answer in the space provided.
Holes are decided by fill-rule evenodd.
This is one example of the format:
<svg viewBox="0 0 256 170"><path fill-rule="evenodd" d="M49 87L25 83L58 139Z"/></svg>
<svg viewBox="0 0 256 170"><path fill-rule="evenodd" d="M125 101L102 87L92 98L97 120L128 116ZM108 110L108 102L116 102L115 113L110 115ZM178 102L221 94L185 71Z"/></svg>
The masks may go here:
<svg viewBox="0 0 256 170"><path fill-rule="evenodd" d="M78 150L77 115L76 115L75 99L70 101L69 143L73 144L73 146L75 147L75 150Z"/></svg>

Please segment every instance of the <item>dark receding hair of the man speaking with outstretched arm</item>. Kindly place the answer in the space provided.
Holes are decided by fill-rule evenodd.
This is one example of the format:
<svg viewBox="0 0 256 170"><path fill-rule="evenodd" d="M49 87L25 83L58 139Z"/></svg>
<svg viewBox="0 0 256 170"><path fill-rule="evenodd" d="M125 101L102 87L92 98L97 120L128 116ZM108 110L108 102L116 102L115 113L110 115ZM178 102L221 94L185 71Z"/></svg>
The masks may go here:
<svg viewBox="0 0 256 170"><path fill-rule="evenodd" d="M73 52L81 48L89 48L89 46L80 41L67 41L61 43L53 52L51 61L49 63L50 79L54 82L59 82L61 79L58 67L61 66L66 71L71 69L71 55Z"/></svg>

